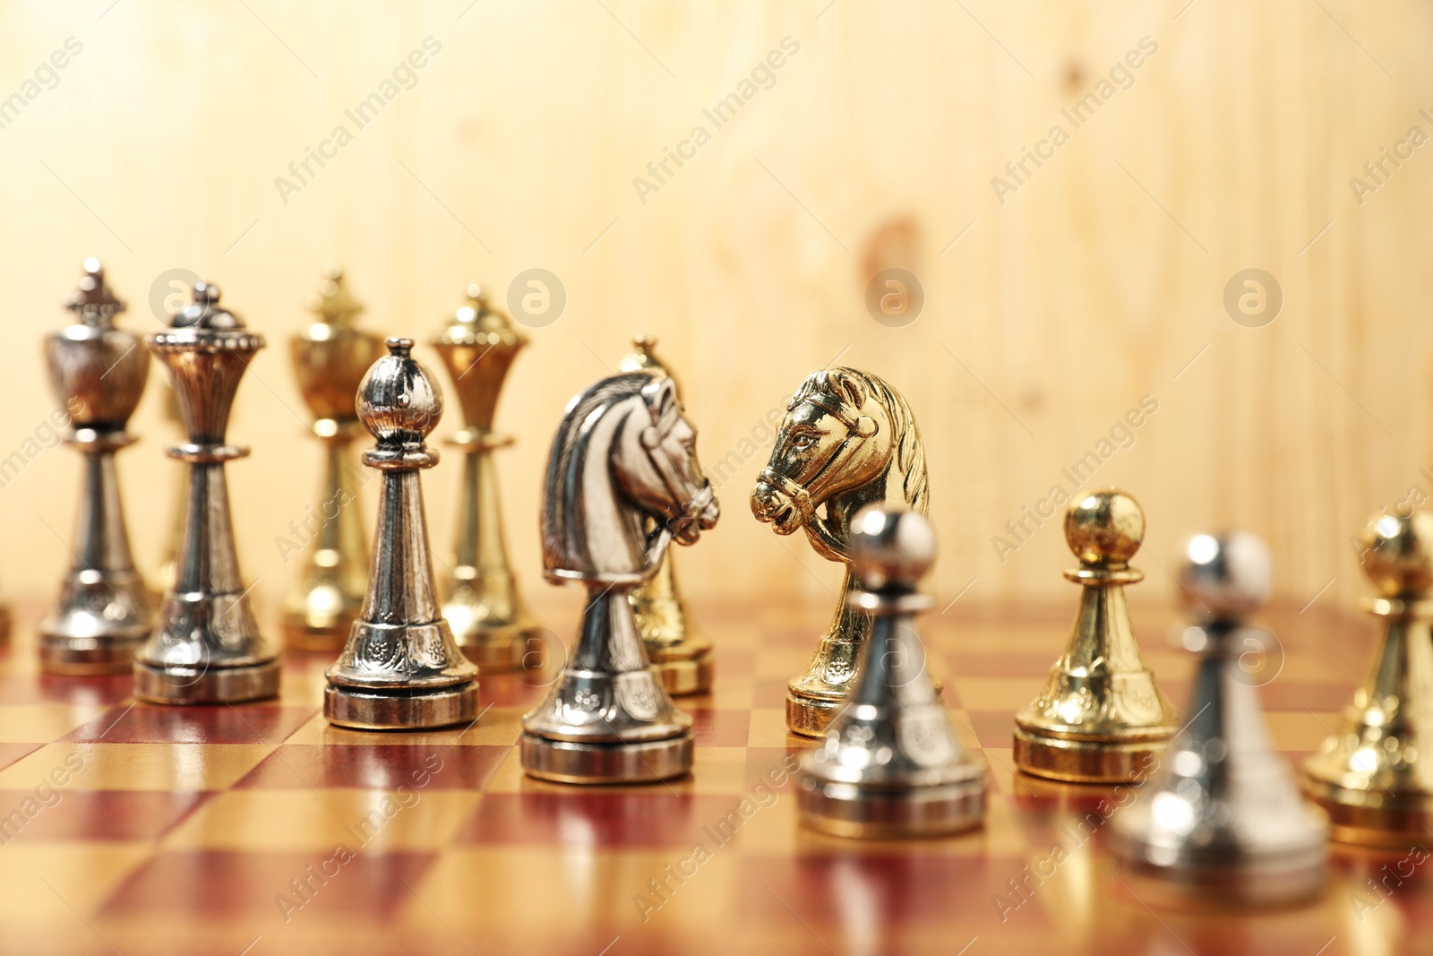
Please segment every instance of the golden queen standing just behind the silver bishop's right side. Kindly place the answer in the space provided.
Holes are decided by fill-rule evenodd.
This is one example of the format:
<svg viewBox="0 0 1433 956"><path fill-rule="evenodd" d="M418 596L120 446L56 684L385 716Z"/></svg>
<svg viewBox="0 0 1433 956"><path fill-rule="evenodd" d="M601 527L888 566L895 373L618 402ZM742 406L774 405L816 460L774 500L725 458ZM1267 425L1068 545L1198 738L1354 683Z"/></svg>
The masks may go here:
<svg viewBox="0 0 1433 956"><path fill-rule="evenodd" d="M449 370L467 426L447 440L463 453L463 490L453 565L440 578L443 616L463 654L484 674L540 668L542 629L507 560L493 467L493 451L513 443L512 436L493 431L493 413L527 337L489 304L480 287L469 285L467 302L428 343Z"/></svg>

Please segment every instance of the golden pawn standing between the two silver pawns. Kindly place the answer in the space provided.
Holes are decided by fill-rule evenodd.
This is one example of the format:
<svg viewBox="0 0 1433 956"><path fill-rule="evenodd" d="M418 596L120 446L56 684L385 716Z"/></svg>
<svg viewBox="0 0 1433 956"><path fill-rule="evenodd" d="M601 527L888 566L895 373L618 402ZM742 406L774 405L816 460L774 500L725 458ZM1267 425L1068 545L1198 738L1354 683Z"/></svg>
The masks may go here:
<svg viewBox="0 0 1433 956"><path fill-rule="evenodd" d="M1015 763L1027 774L1075 783L1142 778L1178 730L1178 717L1145 666L1129 623L1125 585L1145 537L1145 513L1119 489L1070 502L1065 540L1080 566L1079 611L1065 654L1040 694L1015 715Z"/></svg>

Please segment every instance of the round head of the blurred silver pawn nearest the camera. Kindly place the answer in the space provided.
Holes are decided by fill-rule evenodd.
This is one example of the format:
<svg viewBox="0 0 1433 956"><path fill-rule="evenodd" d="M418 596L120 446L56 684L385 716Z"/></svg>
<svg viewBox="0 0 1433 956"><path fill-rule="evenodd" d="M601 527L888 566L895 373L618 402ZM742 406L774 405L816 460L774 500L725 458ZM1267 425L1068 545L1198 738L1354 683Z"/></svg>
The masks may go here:
<svg viewBox="0 0 1433 956"><path fill-rule="evenodd" d="M1179 555L1179 599L1201 623L1237 623L1268 601L1273 569L1257 535L1195 535Z"/></svg>

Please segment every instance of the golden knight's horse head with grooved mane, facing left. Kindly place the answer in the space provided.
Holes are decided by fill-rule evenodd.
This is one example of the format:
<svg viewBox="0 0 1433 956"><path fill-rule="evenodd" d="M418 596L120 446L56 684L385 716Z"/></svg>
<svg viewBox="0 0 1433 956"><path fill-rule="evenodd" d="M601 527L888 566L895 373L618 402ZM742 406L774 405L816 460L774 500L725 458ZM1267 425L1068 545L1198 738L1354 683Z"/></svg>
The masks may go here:
<svg viewBox="0 0 1433 956"><path fill-rule="evenodd" d="M890 474L893 456L904 492L894 500L924 510L924 451L906 401L868 373L821 368L807 376L787 406L771 460L751 489L751 512L778 535L804 527L818 550L838 558L844 535L834 533L817 509ZM886 489L876 497L884 500Z"/></svg>

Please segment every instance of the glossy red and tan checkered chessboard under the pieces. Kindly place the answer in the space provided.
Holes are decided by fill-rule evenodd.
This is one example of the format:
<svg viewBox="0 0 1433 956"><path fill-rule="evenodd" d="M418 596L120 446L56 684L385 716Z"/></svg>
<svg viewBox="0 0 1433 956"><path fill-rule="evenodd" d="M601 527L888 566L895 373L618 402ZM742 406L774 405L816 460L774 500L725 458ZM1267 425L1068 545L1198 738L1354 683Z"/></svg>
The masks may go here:
<svg viewBox="0 0 1433 956"><path fill-rule="evenodd" d="M575 628L565 598L535 603L555 634ZM784 694L830 608L689 603L716 645L714 692L679 699L695 771L642 787L523 775L520 720L560 648L545 672L483 675L473 725L358 732L320 712L324 655L289 654L281 697L245 705L136 704L128 677L40 675L40 606L21 603L0 658L0 950L1334 956L1413 950L1433 923L1422 870L1384 879L1407 854L1338 846L1313 906L1146 906L1105 850L1109 788L1012 773L1013 714L1072 605L967 598L921 618L960 737L990 764L983 828L910 843L804 830L790 770L813 741L787 732ZM1194 658L1175 612L1134 616L1182 704ZM1278 645L1254 672L1297 765L1337 727L1373 623L1278 605L1261 622Z"/></svg>

